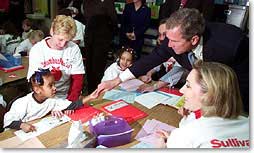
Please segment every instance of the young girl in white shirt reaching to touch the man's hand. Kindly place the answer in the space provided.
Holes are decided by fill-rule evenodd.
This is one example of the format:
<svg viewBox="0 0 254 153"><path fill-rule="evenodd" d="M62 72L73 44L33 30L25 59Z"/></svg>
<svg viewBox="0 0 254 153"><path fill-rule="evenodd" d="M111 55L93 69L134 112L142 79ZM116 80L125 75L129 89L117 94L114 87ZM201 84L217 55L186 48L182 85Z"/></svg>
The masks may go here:
<svg viewBox="0 0 254 153"><path fill-rule="evenodd" d="M22 129L24 132L35 131L35 127L28 121L44 117L49 112L56 117L69 115L74 109L98 97L93 92L76 102L56 98L55 80L49 69L35 71L30 78L30 83L33 92L12 104L10 111L4 116L4 128Z"/></svg>

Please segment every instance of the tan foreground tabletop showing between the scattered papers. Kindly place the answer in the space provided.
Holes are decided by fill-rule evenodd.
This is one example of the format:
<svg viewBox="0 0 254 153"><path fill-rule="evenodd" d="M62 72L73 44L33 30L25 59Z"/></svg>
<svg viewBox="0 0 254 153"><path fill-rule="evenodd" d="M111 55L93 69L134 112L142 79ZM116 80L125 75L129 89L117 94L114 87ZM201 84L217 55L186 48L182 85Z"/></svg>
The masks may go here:
<svg viewBox="0 0 254 153"><path fill-rule="evenodd" d="M111 101L104 100L102 99L102 96L100 96L100 98L90 103L92 103L95 108L100 109L103 105L109 102ZM144 125L147 119L156 119L161 122L167 123L169 125L178 127L178 123L181 119L181 116L177 113L177 110L173 107L160 104L153 107L152 109L147 109L146 107L136 102L133 103L133 105L145 111L148 114L148 116L143 119L137 120L136 122L131 124L131 127L134 129L132 133L131 143L123 145L123 146L119 146L117 148L129 148L132 145L138 143L138 141L136 141L134 137L137 135L137 133L142 128L142 126ZM71 126L71 122L67 122L58 127L55 127L54 129L51 129L50 131L46 133L39 135L37 138L41 141L41 143L46 148L65 147L61 144L66 144L70 126ZM84 127L84 130L87 131L88 127ZM12 130L8 130L3 133L0 133L0 141L5 140L7 138L14 137L15 136L14 132L15 130L12 129Z"/></svg>

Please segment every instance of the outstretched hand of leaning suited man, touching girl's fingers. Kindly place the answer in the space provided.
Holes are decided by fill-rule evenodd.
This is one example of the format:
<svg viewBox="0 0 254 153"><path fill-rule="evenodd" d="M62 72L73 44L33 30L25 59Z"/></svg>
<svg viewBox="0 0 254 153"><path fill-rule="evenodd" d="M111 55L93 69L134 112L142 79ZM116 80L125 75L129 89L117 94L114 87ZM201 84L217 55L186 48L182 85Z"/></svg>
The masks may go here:
<svg viewBox="0 0 254 153"><path fill-rule="evenodd" d="M119 85L120 83L121 83L121 79L119 77L113 80L101 82L97 87L96 94L101 94L108 90L111 90L117 85Z"/></svg>

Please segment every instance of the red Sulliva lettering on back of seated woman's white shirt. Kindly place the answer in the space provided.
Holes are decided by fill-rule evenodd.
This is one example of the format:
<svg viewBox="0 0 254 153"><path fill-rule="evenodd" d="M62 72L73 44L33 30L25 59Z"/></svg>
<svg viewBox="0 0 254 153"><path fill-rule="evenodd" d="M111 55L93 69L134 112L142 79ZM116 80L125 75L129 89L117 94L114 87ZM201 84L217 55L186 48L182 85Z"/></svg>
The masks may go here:
<svg viewBox="0 0 254 153"><path fill-rule="evenodd" d="M238 140L237 138L230 138L227 140L213 139L210 141L212 148L244 148L250 147L250 140Z"/></svg>

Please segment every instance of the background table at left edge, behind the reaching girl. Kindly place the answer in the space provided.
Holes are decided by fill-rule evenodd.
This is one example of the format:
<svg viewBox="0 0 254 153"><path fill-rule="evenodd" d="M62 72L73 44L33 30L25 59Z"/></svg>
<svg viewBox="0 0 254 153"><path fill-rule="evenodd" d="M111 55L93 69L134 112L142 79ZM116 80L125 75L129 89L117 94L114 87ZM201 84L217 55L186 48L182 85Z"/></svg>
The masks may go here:
<svg viewBox="0 0 254 153"><path fill-rule="evenodd" d="M15 97L29 92L29 87L26 80L29 66L28 62L29 58L23 56L23 69L8 73L0 70L0 78L2 79L2 85L0 85L0 94L3 95L7 103L13 100ZM10 75L16 75L16 77L9 77Z"/></svg>

